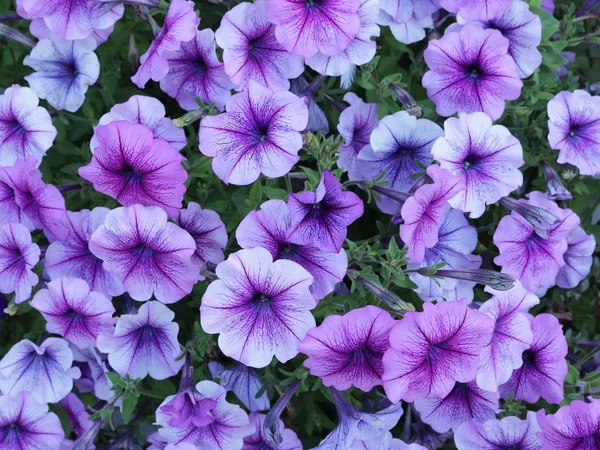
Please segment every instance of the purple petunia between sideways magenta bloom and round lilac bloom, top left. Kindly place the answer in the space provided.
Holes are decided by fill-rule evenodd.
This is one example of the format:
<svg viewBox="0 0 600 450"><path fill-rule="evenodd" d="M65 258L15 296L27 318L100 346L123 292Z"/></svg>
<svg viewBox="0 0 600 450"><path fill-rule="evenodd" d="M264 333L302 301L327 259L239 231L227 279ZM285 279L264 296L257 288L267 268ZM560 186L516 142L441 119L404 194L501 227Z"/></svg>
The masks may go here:
<svg viewBox="0 0 600 450"><path fill-rule="evenodd" d="M188 111L198 109L195 97L205 103L215 103L223 109L231 97L233 84L217 59L215 34L207 28L196 37L183 42L179 50L166 55L169 72L160 80L160 88Z"/></svg>

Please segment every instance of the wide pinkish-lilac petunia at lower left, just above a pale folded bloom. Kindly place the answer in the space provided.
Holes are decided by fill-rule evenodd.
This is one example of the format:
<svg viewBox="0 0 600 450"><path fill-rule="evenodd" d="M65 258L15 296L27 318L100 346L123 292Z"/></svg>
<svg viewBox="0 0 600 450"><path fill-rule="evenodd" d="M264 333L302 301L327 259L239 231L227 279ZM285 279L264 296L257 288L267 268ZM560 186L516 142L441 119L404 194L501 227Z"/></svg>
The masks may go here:
<svg viewBox="0 0 600 450"><path fill-rule="evenodd" d="M98 335L112 328L115 308L79 278L59 278L39 290L30 304L46 319L46 330L79 348L94 347Z"/></svg>

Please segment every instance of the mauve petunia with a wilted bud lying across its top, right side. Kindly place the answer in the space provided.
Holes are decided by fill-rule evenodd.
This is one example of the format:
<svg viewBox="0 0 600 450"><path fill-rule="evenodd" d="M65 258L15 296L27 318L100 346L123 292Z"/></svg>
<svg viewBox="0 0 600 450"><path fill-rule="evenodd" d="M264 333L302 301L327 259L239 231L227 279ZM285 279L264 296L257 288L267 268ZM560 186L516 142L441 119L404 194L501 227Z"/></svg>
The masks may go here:
<svg viewBox="0 0 600 450"><path fill-rule="evenodd" d="M516 212L500 220L494 233L494 244L500 256L494 262L502 271L520 280L530 292L551 287L561 267L568 244L566 236L579 225L579 217L570 209L561 209L541 192L531 192L529 200L519 200L543 208L558 218L548 230L546 239L535 233L533 225Z"/></svg>

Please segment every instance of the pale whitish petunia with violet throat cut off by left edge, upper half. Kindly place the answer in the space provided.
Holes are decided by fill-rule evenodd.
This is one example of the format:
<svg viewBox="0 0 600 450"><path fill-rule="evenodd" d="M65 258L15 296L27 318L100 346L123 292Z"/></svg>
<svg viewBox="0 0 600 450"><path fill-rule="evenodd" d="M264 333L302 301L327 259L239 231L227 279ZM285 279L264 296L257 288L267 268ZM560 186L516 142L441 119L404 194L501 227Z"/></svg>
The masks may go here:
<svg viewBox="0 0 600 450"><path fill-rule="evenodd" d="M50 114L31 89L12 85L0 95L0 166L32 156L37 165L56 138Z"/></svg>

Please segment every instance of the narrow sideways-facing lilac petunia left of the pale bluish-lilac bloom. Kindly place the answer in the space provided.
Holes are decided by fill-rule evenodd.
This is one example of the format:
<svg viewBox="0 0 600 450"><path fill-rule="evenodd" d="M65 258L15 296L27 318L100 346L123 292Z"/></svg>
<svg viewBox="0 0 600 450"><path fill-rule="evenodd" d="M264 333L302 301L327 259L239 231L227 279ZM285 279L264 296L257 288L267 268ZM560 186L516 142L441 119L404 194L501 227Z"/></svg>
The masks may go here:
<svg viewBox="0 0 600 450"><path fill-rule="evenodd" d="M344 95L344 101L349 103L340 114L338 132L344 138L344 144L340 146L340 156L337 160L338 167L348 171L351 180L360 178L360 170L357 168L358 154L365 145L369 145L371 133L379 123L377 119L377 104L365 103L353 92Z"/></svg>

